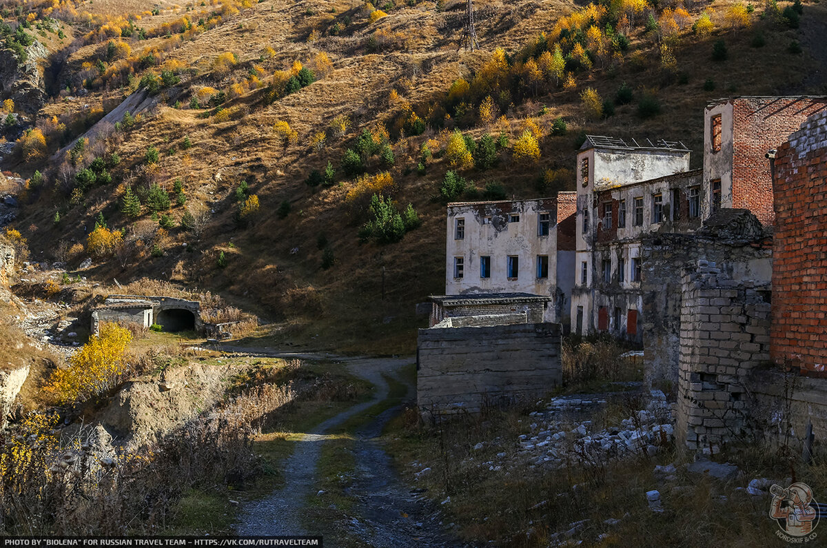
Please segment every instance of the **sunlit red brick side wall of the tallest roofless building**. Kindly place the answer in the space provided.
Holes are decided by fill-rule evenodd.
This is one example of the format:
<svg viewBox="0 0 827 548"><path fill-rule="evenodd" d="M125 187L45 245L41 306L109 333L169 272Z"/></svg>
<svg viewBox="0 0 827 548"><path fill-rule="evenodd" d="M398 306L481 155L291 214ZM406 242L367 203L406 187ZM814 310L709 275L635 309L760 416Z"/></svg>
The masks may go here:
<svg viewBox="0 0 827 548"><path fill-rule="evenodd" d="M733 99L732 207L749 209L772 224L772 175L765 155L786 141L827 99L746 97Z"/></svg>

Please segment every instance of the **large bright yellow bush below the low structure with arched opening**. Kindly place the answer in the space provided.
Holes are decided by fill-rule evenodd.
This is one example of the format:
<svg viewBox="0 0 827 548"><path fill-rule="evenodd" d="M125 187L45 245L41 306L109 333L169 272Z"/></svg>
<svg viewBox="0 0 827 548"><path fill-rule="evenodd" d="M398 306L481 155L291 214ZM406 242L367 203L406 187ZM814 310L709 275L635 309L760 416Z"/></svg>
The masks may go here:
<svg viewBox="0 0 827 548"><path fill-rule="evenodd" d="M111 391L127 373L125 353L131 340L129 329L101 324L100 334L69 358L69 368L55 371L46 391L61 403L88 401Z"/></svg>

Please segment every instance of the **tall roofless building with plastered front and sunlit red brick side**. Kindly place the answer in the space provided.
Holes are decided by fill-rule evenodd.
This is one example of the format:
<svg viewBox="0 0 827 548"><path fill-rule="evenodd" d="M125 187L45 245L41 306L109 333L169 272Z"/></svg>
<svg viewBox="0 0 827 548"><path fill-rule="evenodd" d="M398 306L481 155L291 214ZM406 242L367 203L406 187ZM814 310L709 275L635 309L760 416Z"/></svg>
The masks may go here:
<svg viewBox="0 0 827 548"><path fill-rule="evenodd" d="M825 97L806 96L735 97L707 105L703 190L710 207L749 209L762 224L773 224L765 155L825 105Z"/></svg>

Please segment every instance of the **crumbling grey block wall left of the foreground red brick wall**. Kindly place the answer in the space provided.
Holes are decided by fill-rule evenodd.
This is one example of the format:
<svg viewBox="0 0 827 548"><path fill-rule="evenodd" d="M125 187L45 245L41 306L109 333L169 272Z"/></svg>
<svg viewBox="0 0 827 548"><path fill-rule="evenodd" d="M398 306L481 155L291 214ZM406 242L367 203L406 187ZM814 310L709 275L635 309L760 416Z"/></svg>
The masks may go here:
<svg viewBox="0 0 827 548"><path fill-rule="evenodd" d="M769 286L734 281L714 264L687 269L681 287L676 436L703 449L747 433L753 369L769 361Z"/></svg>

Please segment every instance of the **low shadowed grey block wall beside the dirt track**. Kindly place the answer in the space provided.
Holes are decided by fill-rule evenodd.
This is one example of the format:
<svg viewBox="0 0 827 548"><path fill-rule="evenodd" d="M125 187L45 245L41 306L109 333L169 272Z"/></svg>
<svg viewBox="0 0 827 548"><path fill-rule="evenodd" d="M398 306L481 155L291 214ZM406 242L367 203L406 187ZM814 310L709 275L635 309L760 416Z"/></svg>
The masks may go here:
<svg viewBox="0 0 827 548"><path fill-rule="evenodd" d="M552 390L562 382L561 334L550 323L419 329L420 411L476 412Z"/></svg>

